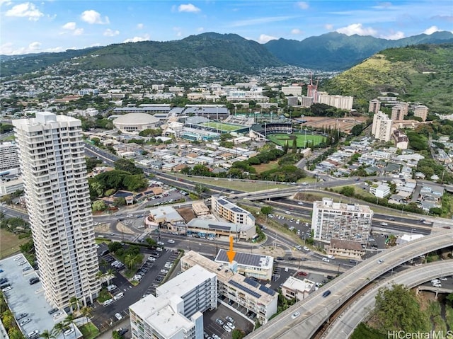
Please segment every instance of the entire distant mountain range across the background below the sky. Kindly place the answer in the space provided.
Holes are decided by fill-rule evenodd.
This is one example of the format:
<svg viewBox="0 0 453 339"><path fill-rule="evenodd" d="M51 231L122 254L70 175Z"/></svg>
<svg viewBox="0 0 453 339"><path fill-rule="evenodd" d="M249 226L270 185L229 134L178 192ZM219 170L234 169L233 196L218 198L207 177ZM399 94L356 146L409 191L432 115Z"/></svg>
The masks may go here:
<svg viewBox="0 0 453 339"><path fill-rule="evenodd" d="M64 63L69 69L132 68L196 69L217 67L251 73L263 67L294 65L311 69L342 70L379 50L418 43L453 42L453 34L436 32L399 40L327 33L297 40L259 44L236 34L202 33L167 42L127 42L84 50L1 57L0 76L40 71Z"/></svg>

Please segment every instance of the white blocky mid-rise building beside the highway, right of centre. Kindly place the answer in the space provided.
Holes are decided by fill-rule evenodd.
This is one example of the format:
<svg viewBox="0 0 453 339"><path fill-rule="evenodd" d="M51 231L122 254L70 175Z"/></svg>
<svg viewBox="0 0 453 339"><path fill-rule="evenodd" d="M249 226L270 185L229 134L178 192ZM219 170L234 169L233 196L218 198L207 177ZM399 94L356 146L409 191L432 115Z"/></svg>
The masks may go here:
<svg viewBox="0 0 453 339"><path fill-rule="evenodd" d="M367 205L333 202L328 197L313 202L313 238L330 243L331 239L367 243L373 211Z"/></svg>

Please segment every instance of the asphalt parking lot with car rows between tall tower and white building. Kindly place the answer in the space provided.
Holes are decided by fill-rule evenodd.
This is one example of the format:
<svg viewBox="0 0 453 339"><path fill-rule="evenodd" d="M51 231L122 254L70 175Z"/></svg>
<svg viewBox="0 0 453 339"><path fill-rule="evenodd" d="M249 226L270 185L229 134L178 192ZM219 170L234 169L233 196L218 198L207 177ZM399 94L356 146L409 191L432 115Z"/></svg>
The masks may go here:
<svg viewBox="0 0 453 339"><path fill-rule="evenodd" d="M100 243L98 248L98 254L102 253L108 249L107 244ZM137 286L133 286L129 280L123 275L126 268L115 268L111 264L117 260L111 253L106 253L105 255L100 256L100 263L105 260L107 265L103 267L101 265L101 270L103 272L113 269L115 270L115 277L110 279L109 285L115 285L115 288L110 291L112 294L113 301L107 306L103 306L98 302L93 305L93 318L91 321L98 326L99 328L110 328L111 326L116 326L117 323L120 323L122 319L118 319L116 314L120 314L122 318L126 318L129 314L128 308L131 304L138 301L142 297L145 297L147 294L154 294L156 287L159 286L164 280L164 277L167 273L161 272L161 270L168 270L165 268L167 262L174 263L178 254L176 251L165 250L161 252L156 252L148 248L142 248L142 253L144 254L144 263L137 266L137 272L141 271L142 277L139 280ZM148 260L148 258L155 258L155 260ZM110 263L109 263L110 262ZM105 283L105 286L107 283ZM115 296L123 294L123 297L115 300ZM127 337L127 335L126 335Z"/></svg>

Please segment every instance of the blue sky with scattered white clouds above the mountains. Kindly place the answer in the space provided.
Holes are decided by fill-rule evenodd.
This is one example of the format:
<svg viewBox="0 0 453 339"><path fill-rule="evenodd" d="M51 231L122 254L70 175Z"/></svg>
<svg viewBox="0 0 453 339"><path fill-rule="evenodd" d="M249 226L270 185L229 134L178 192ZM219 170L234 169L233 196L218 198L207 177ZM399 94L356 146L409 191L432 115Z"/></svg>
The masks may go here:
<svg viewBox="0 0 453 339"><path fill-rule="evenodd" d="M453 1L0 0L0 54L236 33L260 43L337 31L397 39L453 31Z"/></svg>

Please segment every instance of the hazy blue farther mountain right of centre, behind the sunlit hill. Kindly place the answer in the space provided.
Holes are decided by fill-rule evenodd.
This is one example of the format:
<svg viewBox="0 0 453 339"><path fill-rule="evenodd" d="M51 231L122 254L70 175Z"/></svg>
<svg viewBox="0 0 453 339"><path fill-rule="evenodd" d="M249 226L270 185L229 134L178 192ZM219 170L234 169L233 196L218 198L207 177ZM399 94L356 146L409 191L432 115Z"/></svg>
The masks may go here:
<svg viewBox="0 0 453 339"><path fill-rule="evenodd" d="M270 40L265 47L283 62L299 67L336 71L348 69L380 50L422 43L453 42L453 34L436 32L386 40L336 32L297 40Z"/></svg>

